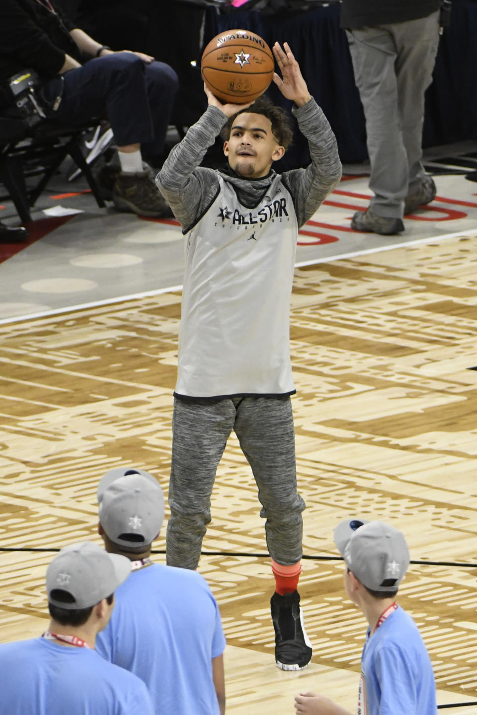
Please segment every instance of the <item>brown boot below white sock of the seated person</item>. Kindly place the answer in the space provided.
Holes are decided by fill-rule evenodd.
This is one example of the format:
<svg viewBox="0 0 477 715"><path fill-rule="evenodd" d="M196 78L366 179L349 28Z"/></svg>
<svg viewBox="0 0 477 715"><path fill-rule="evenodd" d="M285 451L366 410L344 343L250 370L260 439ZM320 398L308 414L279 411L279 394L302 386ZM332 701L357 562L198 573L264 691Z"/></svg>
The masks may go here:
<svg viewBox="0 0 477 715"><path fill-rule="evenodd" d="M147 171L137 174L121 172L114 182L112 198L114 206L119 211L156 218L172 217L173 215L169 204Z"/></svg>

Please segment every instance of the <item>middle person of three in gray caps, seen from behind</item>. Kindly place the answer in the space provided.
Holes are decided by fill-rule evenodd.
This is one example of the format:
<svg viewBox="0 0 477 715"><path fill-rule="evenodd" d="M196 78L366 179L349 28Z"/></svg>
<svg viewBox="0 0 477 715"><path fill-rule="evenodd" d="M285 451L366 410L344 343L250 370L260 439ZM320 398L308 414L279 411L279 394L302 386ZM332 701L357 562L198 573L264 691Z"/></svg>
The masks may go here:
<svg viewBox="0 0 477 715"><path fill-rule="evenodd" d="M155 715L223 715L225 637L217 603L195 571L152 563L164 517L157 480L112 469L98 487L99 533L109 553L132 561L114 613L99 633L104 658L141 678Z"/></svg>

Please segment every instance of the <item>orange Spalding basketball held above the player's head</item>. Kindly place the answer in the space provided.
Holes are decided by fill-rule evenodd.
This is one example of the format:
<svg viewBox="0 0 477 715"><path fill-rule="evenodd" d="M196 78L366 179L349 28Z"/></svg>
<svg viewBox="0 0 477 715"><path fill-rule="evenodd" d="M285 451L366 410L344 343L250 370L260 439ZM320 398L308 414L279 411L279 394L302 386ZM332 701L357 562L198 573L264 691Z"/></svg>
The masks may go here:
<svg viewBox="0 0 477 715"><path fill-rule="evenodd" d="M255 32L227 30L210 40L200 63L202 78L217 99L245 104L257 99L272 82L275 59Z"/></svg>

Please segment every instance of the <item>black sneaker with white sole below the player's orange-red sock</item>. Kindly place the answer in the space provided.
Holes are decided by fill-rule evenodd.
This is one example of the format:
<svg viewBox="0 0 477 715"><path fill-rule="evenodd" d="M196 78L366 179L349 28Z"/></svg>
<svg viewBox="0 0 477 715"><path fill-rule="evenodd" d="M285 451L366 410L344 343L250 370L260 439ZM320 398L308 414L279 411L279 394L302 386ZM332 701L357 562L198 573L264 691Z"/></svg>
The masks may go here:
<svg viewBox="0 0 477 715"><path fill-rule="evenodd" d="M303 625L300 593L274 593L270 609L275 628L275 663L286 671L306 668L313 651Z"/></svg>

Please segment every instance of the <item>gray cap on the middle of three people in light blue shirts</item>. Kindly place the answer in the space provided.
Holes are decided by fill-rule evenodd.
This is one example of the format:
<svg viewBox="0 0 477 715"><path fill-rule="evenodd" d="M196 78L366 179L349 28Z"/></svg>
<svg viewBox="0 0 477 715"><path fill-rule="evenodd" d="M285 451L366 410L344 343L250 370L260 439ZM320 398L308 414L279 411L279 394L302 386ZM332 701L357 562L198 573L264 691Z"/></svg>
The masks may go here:
<svg viewBox="0 0 477 715"><path fill-rule="evenodd" d="M142 469L109 470L98 486L99 522L118 546L149 546L164 520L164 494L156 478Z"/></svg>

